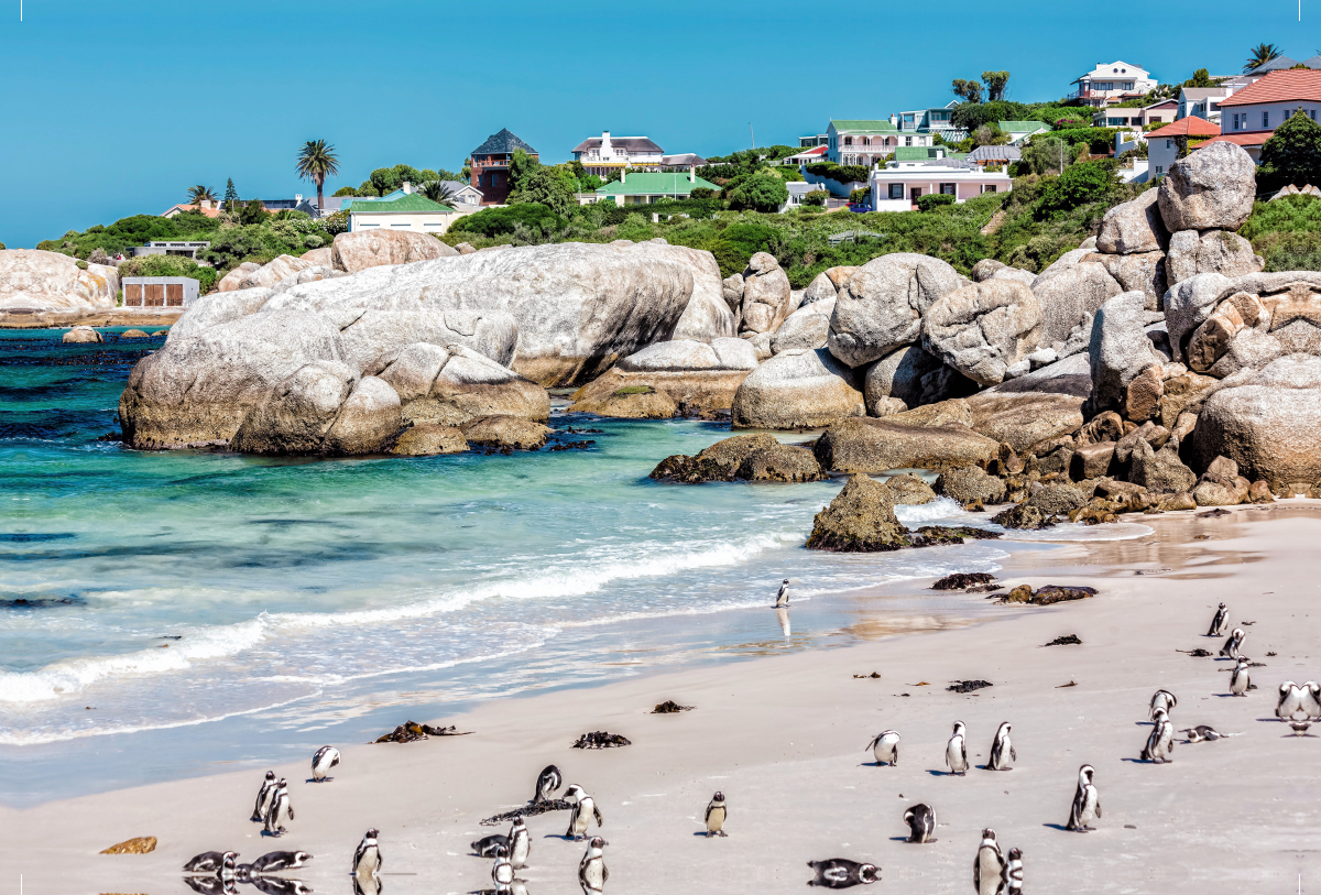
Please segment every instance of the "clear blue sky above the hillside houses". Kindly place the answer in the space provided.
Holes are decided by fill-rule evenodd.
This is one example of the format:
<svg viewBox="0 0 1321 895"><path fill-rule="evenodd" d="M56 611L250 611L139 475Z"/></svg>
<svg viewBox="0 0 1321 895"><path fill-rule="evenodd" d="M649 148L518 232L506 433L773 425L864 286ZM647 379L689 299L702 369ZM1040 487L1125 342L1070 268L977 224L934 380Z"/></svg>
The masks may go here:
<svg viewBox="0 0 1321 895"><path fill-rule="evenodd" d="M1161 82L1232 74L1271 42L1321 49L1321 3L1096 4L667 0L0 0L0 243L160 214L194 183L313 195L295 156L325 139L329 195L374 168L458 170L510 128L546 162L609 129L670 153L797 144L831 117L952 99L954 78L1012 73L1054 100L1098 62ZM1165 28L1162 22L1170 22Z"/></svg>

